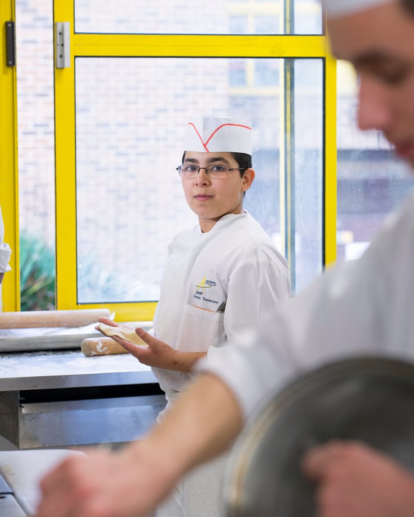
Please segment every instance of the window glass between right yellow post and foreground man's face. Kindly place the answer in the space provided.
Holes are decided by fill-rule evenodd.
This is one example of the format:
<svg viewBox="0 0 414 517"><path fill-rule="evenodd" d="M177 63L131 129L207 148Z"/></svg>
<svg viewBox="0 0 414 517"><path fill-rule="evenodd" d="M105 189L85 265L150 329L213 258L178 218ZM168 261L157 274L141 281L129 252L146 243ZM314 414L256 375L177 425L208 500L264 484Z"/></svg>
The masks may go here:
<svg viewBox="0 0 414 517"><path fill-rule="evenodd" d="M414 186L409 166L379 131L357 128L357 81L338 62L338 260L358 258L384 216Z"/></svg>

